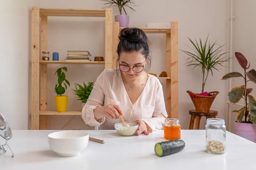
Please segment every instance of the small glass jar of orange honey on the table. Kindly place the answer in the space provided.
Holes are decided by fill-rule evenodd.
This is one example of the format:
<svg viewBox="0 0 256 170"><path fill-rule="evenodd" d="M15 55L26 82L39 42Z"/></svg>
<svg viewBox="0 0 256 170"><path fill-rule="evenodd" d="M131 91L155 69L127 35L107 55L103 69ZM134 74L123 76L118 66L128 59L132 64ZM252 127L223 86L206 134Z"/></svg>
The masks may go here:
<svg viewBox="0 0 256 170"><path fill-rule="evenodd" d="M175 140L180 139L180 120L168 119L164 121L164 139Z"/></svg>

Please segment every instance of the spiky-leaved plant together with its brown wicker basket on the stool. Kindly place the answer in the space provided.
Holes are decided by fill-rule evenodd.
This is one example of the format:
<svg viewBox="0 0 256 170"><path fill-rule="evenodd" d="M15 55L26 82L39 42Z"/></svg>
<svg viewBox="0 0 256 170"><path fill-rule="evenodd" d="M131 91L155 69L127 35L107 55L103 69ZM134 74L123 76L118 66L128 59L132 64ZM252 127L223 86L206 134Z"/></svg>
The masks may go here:
<svg viewBox="0 0 256 170"><path fill-rule="evenodd" d="M213 76L214 70L219 71L219 67L222 67L223 63L230 60L230 58L226 56L228 52L222 52L222 47L224 45L219 45L217 41L210 42L210 40L208 41L208 37L209 35L204 43L201 41L201 38L199 39L199 42L196 39L195 41L192 41L188 38L192 44L192 48L189 46L187 47L192 51L181 50L189 56L187 59L189 61L186 63L187 66L194 66L194 68L200 67L203 73L202 93L187 91L197 112L209 112L213 100L219 93L218 91L204 92L204 86L209 73Z"/></svg>

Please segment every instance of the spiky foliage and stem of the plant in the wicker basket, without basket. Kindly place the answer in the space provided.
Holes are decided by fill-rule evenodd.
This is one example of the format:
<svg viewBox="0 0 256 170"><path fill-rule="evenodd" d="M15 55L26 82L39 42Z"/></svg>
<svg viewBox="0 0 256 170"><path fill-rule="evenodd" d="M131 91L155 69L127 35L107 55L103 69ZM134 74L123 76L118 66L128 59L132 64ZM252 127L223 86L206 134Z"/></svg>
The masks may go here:
<svg viewBox="0 0 256 170"><path fill-rule="evenodd" d="M193 50L193 52L181 50L187 55L189 55L187 60L190 61L186 63L188 64L188 66L194 66L194 68L199 66L202 68L202 93L204 92L204 85L208 78L209 72L211 72L213 76L213 70L219 71L219 67L223 66L224 62L230 60L230 57L226 56L228 52L222 52L222 47L224 45L219 45L217 41L210 42L208 41L208 37L209 35L207 36L206 41L204 43L202 43L201 38L199 39L199 42L197 42L196 39L194 42L190 38L188 38L188 40L192 43L193 48L189 47L188 45L186 46Z"/></svg>

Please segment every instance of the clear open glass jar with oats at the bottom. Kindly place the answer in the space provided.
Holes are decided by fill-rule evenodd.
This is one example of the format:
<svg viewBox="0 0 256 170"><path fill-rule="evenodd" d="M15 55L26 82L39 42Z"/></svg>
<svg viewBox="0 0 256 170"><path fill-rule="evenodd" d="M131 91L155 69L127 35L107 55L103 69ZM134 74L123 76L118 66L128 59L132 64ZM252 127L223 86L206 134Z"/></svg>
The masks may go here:
<svg viewBox="0 0 256 170"><path fill-rule="evenodd" d="M224 119L209 118L206 121L206 151L212 154L226 152L226 126Z"/></svg>

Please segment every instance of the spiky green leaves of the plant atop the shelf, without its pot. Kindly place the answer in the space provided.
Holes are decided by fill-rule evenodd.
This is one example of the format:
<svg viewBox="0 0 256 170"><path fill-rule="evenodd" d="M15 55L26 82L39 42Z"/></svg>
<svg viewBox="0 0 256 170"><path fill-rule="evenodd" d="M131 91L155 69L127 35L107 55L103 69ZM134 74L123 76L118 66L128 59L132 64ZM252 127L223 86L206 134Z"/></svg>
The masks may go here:
<svg viewBox="0 0 256 170"><path fill-rule="evenodd" d="M106 1L107 3L105 3L104 5L109 5L110 6L118 6L118 10L120 12L120 15L122 15L122 9L124 10L125 14L127 15L124 7L128 7L130 9L132 9L133 11L135 11L130 5L135 4L134 2L132 2L132 0L101 0L101 1Z"/></svg>

